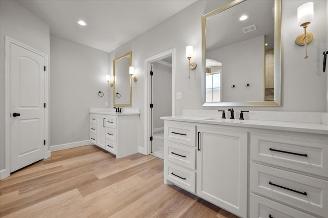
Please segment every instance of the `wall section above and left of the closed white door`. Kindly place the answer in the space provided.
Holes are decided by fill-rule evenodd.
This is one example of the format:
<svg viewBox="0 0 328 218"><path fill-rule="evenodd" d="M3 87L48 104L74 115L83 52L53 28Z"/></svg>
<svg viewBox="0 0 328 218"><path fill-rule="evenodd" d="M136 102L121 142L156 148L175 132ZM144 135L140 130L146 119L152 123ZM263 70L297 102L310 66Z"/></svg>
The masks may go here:
<svg viewBox="0 0 328 218"><path fill-rule="evenodd" d="M0 1L0 171L5 168L5 35L50 54L49 26L16 1Z"/></svg>

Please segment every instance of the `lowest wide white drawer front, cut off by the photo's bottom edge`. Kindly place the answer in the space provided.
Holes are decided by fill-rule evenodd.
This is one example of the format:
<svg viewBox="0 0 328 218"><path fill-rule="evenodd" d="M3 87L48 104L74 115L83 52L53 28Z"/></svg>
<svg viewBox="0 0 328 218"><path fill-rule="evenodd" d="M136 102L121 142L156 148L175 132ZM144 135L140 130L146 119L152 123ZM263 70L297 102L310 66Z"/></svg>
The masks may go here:
<svg viewBox="0 0 328 218"><path fill-rule="evenodd" d="M251 193L250 217L252 218L315 218L309 214L262 198Z"/></svg>

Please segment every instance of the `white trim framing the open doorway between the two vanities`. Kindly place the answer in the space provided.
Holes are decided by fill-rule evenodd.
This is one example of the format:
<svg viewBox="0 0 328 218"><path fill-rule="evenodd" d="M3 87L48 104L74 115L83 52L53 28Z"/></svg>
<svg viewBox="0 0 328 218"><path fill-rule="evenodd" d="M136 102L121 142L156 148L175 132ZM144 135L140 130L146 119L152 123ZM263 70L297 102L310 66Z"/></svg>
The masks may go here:
<svg viewBox="0 0 328 218"><path fill-rule="evenodd" d="M166 52L162 52L160 54L154 55L152 57L149 57L145 59L145 147L139 147L140 150L143 150L144 152L141 152L142 154L149 155L150 154L150 126L151 126L151 111L150 111L150 79L151 76L149 74L150 72L150 66L151 62L157 61L159 59L162 59L164 57L172 55L172 116L175 116L175 49L168 50Z"/></svg>

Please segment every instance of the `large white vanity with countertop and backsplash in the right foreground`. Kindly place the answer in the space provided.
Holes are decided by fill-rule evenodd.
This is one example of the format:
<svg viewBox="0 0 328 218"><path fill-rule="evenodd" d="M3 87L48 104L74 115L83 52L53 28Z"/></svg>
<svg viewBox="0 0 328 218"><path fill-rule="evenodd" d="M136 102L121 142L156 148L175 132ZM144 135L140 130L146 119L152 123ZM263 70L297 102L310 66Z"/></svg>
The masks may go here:
<svg viewBox="0 0 328 218"><path fill-rule="evenodd" d="M217 111L185 110L162 117L164 183L240 217L327 217L326 114L265 114L231 120Z"/></svg>

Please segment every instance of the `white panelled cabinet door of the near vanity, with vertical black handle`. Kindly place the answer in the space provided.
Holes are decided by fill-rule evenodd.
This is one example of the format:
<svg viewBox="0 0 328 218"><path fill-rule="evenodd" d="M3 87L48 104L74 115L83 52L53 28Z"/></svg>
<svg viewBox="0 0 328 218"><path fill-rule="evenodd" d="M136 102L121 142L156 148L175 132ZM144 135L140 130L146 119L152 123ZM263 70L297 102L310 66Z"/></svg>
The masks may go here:
<svg viewBox="0 0 328 218"><path fill-rule="evenodd" d="M197 194L247 216L247 132L197 126Z"/></svg>

